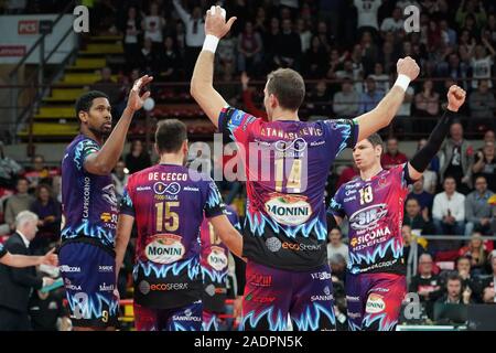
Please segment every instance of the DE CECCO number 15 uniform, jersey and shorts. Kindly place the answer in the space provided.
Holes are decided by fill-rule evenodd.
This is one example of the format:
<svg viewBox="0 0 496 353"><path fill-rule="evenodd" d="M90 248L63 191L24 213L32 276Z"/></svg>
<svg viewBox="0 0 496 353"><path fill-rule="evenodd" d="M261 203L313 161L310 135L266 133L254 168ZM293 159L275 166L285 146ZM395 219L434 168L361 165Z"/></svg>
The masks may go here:
<svg viewBox="0 0 496 353"><path fill-rule="evenodd" d="M154 165L129 178L120 212L133 216L138 229L133 268L137 330L200 331L200 226L204 215L209 218L224 213L215 183L182 165Z"/></svg>

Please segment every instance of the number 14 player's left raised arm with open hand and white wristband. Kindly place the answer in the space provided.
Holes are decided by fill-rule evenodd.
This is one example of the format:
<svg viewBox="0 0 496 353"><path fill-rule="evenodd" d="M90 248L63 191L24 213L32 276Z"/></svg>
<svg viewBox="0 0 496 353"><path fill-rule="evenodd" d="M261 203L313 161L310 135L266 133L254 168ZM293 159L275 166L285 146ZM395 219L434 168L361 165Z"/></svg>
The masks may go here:
<svg viewBox="0 0 496 353"><path fill-rule="evenodd" d="M213 7L214 8L214 7ZM226 100L214 88L214 56L218 41L229 32L236 18L226 19L220 7L207 11L205 18L205 43L196 60L190 93L211 121L218 127L218 115L227 106Z"/></svg>

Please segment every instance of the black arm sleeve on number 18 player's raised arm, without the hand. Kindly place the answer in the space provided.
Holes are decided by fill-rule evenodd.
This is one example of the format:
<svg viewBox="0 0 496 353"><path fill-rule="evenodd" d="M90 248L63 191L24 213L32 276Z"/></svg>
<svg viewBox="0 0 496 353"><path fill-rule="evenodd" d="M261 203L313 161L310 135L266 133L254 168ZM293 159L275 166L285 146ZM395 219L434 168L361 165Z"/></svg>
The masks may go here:
<svg viewBox="0 0 496 353"><path fill-rule="evenodd" d="M414 168L414 170L422 173L429 167L446 138L446 135L450 131L450 126L455 116L456 113L448 109L444 110L441 120L438 122L434 130L432 130L425 146L417 151L416 156L411 159L410 164Z"/></svg>

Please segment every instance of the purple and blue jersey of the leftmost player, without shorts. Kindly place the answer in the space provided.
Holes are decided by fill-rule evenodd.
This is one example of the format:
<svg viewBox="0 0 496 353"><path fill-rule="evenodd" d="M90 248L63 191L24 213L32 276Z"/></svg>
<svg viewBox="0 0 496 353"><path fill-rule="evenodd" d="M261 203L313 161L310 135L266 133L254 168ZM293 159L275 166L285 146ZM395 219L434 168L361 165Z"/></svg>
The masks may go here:
<svg viewBox="0 0 496 353"><path fill-rule="evenodd" d="M118 204L110 174L96 175L84 168L86 158L100 150L93 139L78 135L62 161L62 242L90 239L114 249Z"/></svg>

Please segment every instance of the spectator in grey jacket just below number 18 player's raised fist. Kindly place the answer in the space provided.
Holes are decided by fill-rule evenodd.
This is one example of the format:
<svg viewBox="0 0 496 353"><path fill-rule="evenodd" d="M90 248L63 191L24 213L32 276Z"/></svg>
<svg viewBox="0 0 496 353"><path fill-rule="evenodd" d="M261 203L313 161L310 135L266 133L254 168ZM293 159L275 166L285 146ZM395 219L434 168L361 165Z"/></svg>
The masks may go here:
<svg viewBox="0 0 496 353"><path fill-rule="evenodd" d="M453 176L457 191L467 194L471 190L471 168L474 159L472 145L463 138L463 127L460 122L453 122L450 127L450 138L446 139L440 150L440 176L444 180Z"/></svg>

